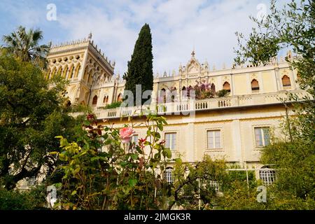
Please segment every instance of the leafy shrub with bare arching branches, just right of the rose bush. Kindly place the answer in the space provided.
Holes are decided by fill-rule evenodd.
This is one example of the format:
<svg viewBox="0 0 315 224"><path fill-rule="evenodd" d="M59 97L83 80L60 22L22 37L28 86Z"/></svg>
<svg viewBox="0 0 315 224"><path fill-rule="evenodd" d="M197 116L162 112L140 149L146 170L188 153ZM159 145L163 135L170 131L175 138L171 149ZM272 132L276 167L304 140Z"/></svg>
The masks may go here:
<svg viewBox="0 0 315 224"><path fill-rule="evenodd" d="M214 209L220 197L211 185L216 181L222 186L228 179L224 160L211 160L206 156L202 162L195 165L177 162L174 170L174 200L169 204L169 209L174 206L184 209L198 209L199 197L202 201L201 209Z"/></svg>

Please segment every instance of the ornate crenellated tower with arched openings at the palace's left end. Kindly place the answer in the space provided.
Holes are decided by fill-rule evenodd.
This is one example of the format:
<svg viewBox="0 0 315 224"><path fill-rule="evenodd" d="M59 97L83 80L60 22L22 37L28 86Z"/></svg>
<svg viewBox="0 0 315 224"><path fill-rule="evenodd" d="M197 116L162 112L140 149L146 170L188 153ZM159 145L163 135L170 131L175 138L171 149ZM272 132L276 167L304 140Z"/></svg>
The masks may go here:
<svg viewBox="0 0 315 224"><path fill-rule="evenodd" d="M71 104L90 104L94 86L111 83L115 62L111 62L88 38L53 45L48 54L47 78L59 75L69 80L66 90Z"/></svg>

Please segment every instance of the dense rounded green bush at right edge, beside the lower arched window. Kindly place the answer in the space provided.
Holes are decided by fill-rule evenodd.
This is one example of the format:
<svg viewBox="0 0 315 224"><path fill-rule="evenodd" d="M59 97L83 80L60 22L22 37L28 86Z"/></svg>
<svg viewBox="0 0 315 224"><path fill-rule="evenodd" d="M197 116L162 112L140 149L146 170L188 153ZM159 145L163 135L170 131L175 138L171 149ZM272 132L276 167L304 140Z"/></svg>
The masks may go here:
<svg viewBox="0 0 315 224"><path fill-rule="evenodd" d="M276 192L315 200L314 143L277 142L263 150L262 162L274 164L277 170Z"/></svg>

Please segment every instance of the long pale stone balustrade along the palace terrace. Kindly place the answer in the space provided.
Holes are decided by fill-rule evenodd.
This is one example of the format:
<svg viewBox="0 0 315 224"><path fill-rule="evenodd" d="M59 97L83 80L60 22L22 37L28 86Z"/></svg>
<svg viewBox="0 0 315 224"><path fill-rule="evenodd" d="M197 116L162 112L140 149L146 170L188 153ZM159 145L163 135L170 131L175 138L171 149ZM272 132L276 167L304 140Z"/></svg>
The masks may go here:
<svg viewBox="0 0 315 224"><path fill-rule="evenodd" d="M298 94L300 99L305 92L302 90L290 91ZM146 114L149 111L158 112L158 114L180 114L186 111L204 111L209 109L223 109L239 106L257 106L264 104L279 104L280 98L286 98L286 92L276 92L267 94L251 94L225 98L211 98L202 100L189 100L187 102L173 102L166 104L151 104L150 106L118 107L116 109L95 110L97 118L120 118L127 116L139 116L140 113ZM158 110L157 110L158 109Z"/></svg>

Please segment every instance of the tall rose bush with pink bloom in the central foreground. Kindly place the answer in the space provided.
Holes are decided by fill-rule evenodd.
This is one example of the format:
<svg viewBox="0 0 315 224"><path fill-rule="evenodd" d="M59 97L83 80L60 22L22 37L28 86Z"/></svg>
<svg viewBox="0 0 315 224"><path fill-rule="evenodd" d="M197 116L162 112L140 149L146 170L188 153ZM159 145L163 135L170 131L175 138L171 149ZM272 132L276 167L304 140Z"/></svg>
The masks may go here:
<svg viewBox="0 0 315 224"><path fill-rule="evenodd" d="M165 208L169 184L164 171L175 161L160 141L159 130L165 124L165 118L148 115L145 139L122 144L119 130L102 127L89 115L76 141L58 137L61 151L51 154L62 161L57 169L64 173L62 209ZM145 153L145 147L149 152Z"/></svg>

